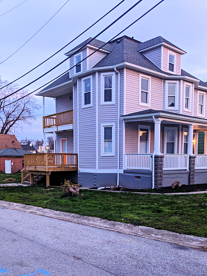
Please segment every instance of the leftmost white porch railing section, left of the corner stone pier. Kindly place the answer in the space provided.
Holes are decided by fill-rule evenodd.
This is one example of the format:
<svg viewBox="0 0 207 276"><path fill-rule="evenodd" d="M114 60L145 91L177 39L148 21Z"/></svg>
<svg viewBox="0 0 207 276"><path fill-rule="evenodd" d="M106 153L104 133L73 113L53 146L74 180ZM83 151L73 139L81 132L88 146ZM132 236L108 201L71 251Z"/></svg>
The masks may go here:
<svg viewBox="0 0 207 276"><path fill-rule="evenodd" d="M152 154L126 153L125 169L152 170Z"/></svg>

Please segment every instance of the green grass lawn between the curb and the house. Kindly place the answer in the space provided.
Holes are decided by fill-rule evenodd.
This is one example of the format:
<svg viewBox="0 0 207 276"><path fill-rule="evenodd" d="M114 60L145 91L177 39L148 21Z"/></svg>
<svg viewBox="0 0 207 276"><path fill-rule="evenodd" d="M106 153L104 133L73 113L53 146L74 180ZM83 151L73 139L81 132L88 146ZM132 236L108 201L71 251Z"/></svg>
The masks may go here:
<svg viewBox="0 0 207 276"><path fill-rule="evenodd" d="M64 198L62 190L52 186L0 187L0 200L207 237L206 194L80 193Z"/></svg>

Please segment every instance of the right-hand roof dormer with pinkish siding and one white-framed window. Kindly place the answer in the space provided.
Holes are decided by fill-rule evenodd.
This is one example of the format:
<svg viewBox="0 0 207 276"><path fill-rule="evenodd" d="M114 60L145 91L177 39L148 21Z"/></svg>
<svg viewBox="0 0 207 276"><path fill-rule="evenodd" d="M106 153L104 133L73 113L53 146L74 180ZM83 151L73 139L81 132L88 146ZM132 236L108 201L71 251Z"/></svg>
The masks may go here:
<svg viewBox="0 0 207 276"><path fill-rule="evenodd" d="M161 36L138 44L138 51L161 70L181 75L181 55L186 52Z"/></svg>

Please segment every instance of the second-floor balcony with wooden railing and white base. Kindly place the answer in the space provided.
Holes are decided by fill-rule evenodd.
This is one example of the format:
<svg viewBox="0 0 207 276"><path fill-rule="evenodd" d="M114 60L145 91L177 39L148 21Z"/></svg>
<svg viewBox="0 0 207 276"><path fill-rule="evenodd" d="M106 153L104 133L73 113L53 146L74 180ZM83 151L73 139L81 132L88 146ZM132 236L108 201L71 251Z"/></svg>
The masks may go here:
<svg viewBox="0 0 207 276"><path fill-rule="evenodd" d="M67 129L73 129L73 110L43 117L44 133L52 133L53 131L62 131Z"/></svg>

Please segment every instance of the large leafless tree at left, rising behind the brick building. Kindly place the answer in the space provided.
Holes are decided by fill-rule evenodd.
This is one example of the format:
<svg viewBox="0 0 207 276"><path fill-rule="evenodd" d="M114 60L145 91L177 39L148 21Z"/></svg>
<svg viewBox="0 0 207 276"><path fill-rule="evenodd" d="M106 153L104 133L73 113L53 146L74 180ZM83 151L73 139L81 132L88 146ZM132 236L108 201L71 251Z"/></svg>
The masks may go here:
<svg viewBox="0 0 207 276"><path fill-rule="evenodd" d="M7 83L7 81L2 81L0 77L0 87ZM17 90L18 87L18 84L11 84L2 88L0 90L0 97L4 98L8 94ZM27 89L23 89L4 100L0 100L0 134L12 133L14 126L21 129L23 125L31 124L36 120L35 111L38 110L40 106L33 95L26 96L25 98L4 107L8 103L21 98L27 94L27 92Z"/></svg>

